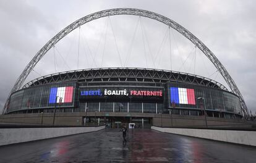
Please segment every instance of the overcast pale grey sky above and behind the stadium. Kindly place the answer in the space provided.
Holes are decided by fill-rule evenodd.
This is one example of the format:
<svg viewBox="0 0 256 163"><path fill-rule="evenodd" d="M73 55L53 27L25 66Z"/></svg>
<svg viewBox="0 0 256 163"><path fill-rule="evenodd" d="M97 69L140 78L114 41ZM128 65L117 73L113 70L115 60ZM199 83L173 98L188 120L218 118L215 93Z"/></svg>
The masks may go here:
<svg viewBox="0 0 256 163"><path fill-rule="evenodd" d="M255 113L255 6L253 0L1 0L0 107L28 62L60 30L93 12L132 7L164 15L197 36L226 67L247 107ZM155 20L131 15L94 20L72 31L56 44L54 51L46 53L25 83L65 70L120 67L121 62L126 67L195 73L227 86L207 57L184 36Z"/></svg>

